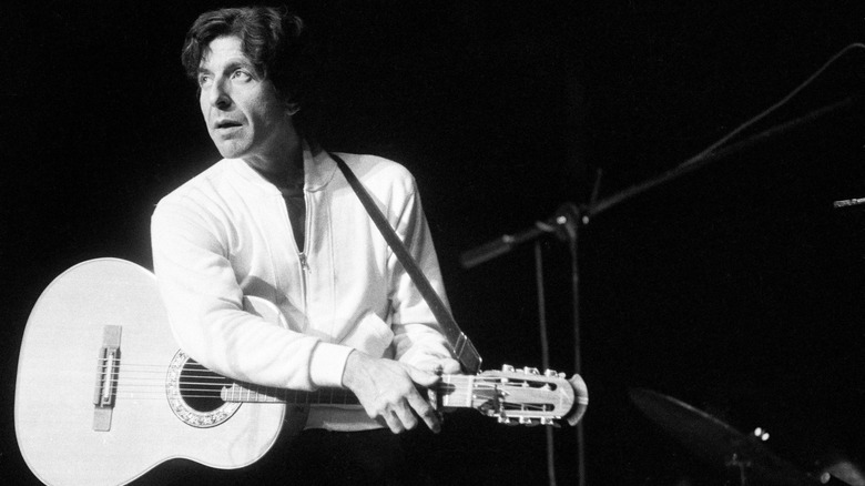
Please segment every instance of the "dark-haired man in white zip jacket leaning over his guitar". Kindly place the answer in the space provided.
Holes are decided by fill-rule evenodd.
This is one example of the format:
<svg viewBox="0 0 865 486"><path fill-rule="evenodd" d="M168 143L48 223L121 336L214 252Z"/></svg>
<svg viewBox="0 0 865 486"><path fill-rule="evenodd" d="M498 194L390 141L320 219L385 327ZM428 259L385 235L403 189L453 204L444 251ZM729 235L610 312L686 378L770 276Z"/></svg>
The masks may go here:
<svg viewBox="0 0 865 486"><path fill-rule="evenodd" d="M360 434L350 436L364 437L358 450L393 459L360 460L367 464L352 466L346 479L378 482L403 460L387 452L398 453L390 432L419 421L439 431L416 387L459 364L332 156L295 123L304 108L303 34L301 19L269 8L207 12L190 29L182 60L223 160L157 205L154 270L176 341L204 366L263 386L357 395L362 408L314 408L307 429L330 432L304 435L327 456L334 452L322 441ZM380 158L339 156L444 297L410 174ZM275 304L289 328L247 312L252 295ZM295 466L336 468L333 476L353 460L297 460L302 449L292 449Z"/></svg>

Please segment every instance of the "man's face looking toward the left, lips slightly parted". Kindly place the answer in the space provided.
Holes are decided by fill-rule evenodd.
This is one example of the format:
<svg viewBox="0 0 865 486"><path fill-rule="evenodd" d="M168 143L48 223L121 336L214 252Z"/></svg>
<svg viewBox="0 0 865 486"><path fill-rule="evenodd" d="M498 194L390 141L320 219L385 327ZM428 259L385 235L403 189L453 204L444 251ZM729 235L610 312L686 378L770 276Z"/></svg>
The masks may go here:
<svg viewBox="0 0 865 486"><path fill-rule="evenodd" d="M220 154L266 168L294 136L287 107L234 36L214 39L199 68L201 111Z"/></svg>

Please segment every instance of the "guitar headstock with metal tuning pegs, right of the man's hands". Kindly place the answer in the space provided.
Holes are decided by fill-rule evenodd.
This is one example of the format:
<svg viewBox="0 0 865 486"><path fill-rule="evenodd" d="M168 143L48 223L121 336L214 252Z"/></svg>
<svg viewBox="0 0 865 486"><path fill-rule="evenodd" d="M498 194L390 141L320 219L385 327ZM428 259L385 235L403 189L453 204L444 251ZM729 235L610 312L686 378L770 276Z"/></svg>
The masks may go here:
<svg viewBox="0 0 865 486"><path fill-rule="evenodd" d="M472 377L472 407L512 425L556 425L566 418L576 425L589 404L589 392L579 375L538 368L502 366Z"/></svg>

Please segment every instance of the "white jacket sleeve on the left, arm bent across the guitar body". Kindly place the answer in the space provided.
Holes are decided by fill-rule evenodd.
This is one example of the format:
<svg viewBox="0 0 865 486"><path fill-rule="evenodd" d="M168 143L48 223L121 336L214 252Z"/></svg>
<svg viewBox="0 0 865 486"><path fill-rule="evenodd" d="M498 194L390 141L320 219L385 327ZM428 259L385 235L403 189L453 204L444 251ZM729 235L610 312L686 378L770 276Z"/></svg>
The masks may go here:
<svg viewBox="0 0 865 486"><path fill-rule="evenodd" d="M226 232L214 220L163 201L151 221L154 272L180 347L234 379L294 389L339 386L350 348L247 312Z"/></svg>

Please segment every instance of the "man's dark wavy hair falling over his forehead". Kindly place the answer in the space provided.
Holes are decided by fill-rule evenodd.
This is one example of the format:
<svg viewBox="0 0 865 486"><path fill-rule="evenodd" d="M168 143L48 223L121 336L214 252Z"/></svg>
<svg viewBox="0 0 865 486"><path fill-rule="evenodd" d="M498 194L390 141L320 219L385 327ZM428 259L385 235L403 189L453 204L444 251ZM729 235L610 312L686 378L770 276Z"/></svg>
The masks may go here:
<svg viewBox="0 0 865 486"><path fill-rule="evenodd" d="M181 61L190 79L210 43L222 36L241 39L243 53L258 74L271 80L279 98L304 105L313 63L304 21L286 8L244 7L202 13L186 32Z"/></svg>

